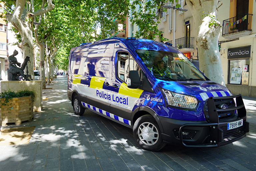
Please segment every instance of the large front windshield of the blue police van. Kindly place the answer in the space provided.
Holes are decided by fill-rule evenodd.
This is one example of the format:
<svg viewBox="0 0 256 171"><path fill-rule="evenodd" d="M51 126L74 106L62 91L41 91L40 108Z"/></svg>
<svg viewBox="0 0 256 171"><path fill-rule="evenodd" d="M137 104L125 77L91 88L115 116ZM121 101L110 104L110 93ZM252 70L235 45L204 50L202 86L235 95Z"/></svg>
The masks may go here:
<svg viewBox="0 0 256 171"><path fill-rule="evenodd" d="M187 81L206 80L203 74L182 53L136 50L146 67L162 80Z"/></svg>

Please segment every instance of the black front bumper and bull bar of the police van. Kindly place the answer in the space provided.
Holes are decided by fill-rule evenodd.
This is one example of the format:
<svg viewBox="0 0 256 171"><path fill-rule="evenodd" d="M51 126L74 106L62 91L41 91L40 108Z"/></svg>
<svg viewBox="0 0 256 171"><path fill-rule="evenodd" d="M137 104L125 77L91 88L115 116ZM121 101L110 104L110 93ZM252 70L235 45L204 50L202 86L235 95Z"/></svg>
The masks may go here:
<svg viewBox="0 0 256 171"><path fill-rule="evenodd" d="M216 109L214 100L236 98L236 106L229 109ZM181 121L160 117L166 143L181 143L186 147L218 147L232 143L246 136L249 123L241 95L210 97L208 103L209 121ZM219 122L218 112L237 110L238 115ZM243 125L228 130L228 123L243 120Z"/></svg>

